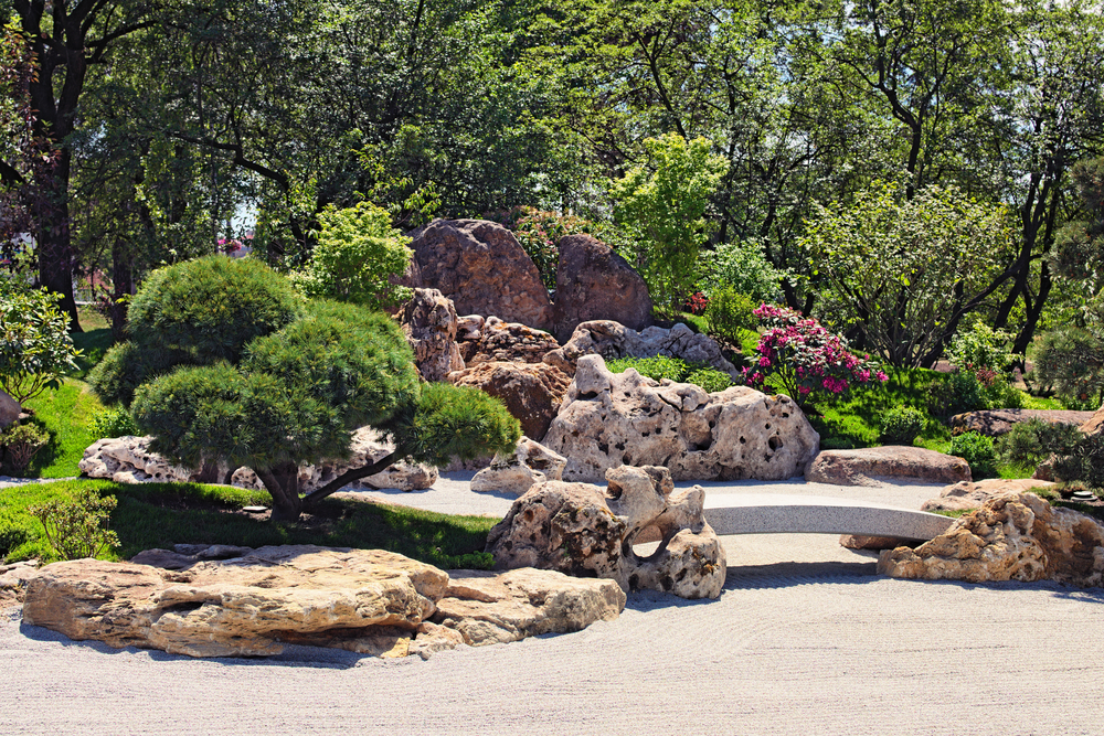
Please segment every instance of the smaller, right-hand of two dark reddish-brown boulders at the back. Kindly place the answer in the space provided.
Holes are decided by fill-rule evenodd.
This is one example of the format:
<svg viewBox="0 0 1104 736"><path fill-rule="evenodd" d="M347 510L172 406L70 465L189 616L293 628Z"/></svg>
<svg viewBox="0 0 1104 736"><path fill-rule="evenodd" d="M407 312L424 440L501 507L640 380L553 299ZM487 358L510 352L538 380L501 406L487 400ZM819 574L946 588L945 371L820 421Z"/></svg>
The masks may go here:
<svg viewBox="0 0 1104 736"><path fill-rule="evenodd" d="M580 322L590 320L615 320L631 330L651 324L648 286L613 248L591 235L565 235L556 249L556 340L567 342Z"/></svg>

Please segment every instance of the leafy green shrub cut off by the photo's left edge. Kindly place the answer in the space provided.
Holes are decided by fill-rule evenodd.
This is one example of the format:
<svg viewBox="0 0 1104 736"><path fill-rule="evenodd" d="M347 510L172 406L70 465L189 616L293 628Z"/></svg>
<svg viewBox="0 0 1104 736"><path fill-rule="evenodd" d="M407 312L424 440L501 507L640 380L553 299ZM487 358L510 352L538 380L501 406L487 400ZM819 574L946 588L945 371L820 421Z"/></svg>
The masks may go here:
<svg viewBox="0 0 1104 736"><path fill-rule="evenodd" d="M77 369L60 297L0 275L0 388L22 404Z"/></svg>

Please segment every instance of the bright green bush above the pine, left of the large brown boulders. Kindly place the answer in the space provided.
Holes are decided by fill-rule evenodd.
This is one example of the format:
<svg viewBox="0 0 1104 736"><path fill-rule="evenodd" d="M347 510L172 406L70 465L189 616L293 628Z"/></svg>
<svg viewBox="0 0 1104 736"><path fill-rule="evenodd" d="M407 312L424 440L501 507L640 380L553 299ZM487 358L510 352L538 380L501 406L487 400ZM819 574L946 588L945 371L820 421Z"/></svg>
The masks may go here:
<svg viewBox="0 0 1104 736"><path fill-rule="evenodd" d="M337 299L380 309L410 297L390 277L402 276L414 253L410 238L391 226L391 214L371 202L328 205L318 214L321 230L310 260L295 275L312 298Z"/></svg>

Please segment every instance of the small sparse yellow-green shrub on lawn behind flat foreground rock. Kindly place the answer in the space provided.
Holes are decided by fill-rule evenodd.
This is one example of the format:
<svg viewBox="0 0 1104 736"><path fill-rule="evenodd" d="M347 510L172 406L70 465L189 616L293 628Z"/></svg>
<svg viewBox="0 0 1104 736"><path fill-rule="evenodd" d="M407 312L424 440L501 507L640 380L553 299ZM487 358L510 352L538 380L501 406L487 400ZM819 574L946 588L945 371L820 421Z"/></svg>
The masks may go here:
<svg viewBox="0 0 1104 736"><path fill-rule="evenodd" d="M53 500L29 511L42 522L46 541L62 559L81 559L119 546L118 536L108 529L115 505L114 497L88 488L71 500Z"/></svg>

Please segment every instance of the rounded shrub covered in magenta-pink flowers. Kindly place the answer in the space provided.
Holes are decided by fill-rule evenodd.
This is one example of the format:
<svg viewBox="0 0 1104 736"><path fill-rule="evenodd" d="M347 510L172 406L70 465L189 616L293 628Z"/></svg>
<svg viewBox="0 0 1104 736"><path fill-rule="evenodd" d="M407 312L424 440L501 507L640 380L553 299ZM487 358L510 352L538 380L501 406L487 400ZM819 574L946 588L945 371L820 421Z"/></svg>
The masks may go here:
<svg viewBox="0 0 1104 736"><path fill-rule="evenodd" d="M767 329L760 338L758 361L744 369L749 386L777 377L784 393L804 407L816 398L841 396L853 385L889 378L869 355L853 355L845 338L815 319L771 305L761 305L754 314Z"/></svg>

